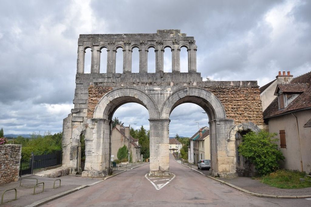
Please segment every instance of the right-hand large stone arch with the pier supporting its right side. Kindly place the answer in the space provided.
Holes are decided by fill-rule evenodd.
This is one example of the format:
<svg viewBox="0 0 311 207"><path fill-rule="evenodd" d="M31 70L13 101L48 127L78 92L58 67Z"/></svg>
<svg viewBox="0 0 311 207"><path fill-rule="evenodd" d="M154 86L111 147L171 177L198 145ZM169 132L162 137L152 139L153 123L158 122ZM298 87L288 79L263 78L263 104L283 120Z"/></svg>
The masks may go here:
<svg viewBox="0 0 311 207"><path fill-rule="evenodd" d="M225 142L228 128L232 127L234 122L226 118L223 104L210 91L199 87L185 87L175 91L165 100L160 118L169 119L173 109L183 103L201 106L209 117L212 175L236 176L235 157L234 154L226 153L228 143Z"/></svg>

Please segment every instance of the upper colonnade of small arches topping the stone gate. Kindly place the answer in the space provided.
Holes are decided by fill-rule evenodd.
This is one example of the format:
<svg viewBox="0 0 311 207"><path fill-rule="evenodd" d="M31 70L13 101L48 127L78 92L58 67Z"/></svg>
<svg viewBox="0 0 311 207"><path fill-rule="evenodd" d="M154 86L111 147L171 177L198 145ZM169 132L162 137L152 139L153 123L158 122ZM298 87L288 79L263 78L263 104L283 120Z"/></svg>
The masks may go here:
<svg viewBox="0 0 311 207"><path fill-rule="evenodd" d="M107 73L116 71L116 52L123 49L123 73L132 72L132 49L139 50L139 72L147 72L147 53L154 48L156 72L163 72L164 49L171 48L172 72L180 72L180 48L188 51L188 72L197 72L197 46L193 37L180 30L157 30L153 34L80 34L77 73L84 73L85 50L91 48L91 73L100 73L100 53L107 49Z"/></svg>

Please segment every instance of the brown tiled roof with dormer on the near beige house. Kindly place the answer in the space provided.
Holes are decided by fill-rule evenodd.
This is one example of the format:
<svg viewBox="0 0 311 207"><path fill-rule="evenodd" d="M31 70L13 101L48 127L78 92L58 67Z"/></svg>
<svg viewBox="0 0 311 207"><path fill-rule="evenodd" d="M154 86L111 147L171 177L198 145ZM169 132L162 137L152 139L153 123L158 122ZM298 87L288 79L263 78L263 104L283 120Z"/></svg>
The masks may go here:
<svg viewBox="0 0 311 207"><path fill-rule="evenodd" d="M295 93L297 90L300 90L299 93L301 93L301 91L303 91L296 99L294 99L290 104L282 109L279 109L278 98L276 97L263 112L263 117L265 119L276 115L281 115L283 113L294 112L296 110L311 107L311 71L294 78L290 84L281 85L285 85L283 89L286 91L286 93Z"/></svg>

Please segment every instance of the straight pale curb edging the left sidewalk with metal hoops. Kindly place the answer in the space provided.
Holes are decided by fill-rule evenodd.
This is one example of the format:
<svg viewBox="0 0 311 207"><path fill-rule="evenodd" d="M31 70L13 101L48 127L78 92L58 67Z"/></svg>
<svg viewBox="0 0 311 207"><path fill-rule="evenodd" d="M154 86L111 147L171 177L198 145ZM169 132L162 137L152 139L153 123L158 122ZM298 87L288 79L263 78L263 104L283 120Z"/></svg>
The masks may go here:
<svg viewBox="0 0 311 207"><path fill-rule="evenodd" d="M70 193L79 191L79 190L81 190L81 189L83 189L83 188L86 188L86 187L89 187L89 186L93 186L93 185L95 185L95 184L97 184L97 183L103 182L103 181L105 181L105 180L107 180L107 179L109 179L109 178L111 178L111 177L114 177L114 176L116 176L116 175L118 175L118 174L124 173L124 172L129 171L129 170L132 170L132 169L134 169L134 168L142 167L142 166L147 165L147 164L149 164L149 163L146 163L146 164L143 164L143 165L139 165L139 166L136 166L136 167L127 169L127 170L123 170L123 171L121 171L121 172L119 172L119 173L116 173L116 174L111 175L111 176L109 176L109 177L105 177L103 180L99 180L99 181L93 182L93 183L91 183L91 184L89 184L89 185L81 185L81 186L76 187L76 188L74 188L74 189L71 189L71 190L68 190L68 191L64 191L64 192L59 193L59 194L56 194L56 195L52 195L52 196L50 196L50 197L48 197L48 198L44 198L44 199L38 200L38 201L36 201L36 202L34 202L34 203L30 204L30 205L26 205L25 207L37 207L37 206L43 205L43 204L45 204L45 203L48 203L49 201L52 201L52 200L61 198L61 197L65 196L65 195L68 195L68 194L70 194Z"/></svg>

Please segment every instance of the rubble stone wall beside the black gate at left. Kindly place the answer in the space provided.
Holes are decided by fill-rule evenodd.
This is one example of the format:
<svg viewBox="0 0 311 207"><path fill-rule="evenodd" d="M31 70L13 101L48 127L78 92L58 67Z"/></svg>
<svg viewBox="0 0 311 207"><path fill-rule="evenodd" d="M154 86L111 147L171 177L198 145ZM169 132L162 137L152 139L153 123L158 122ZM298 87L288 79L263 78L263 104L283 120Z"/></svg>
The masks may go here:
<svg viewBox="0 0 311 207"><path fill-rule="evenodd" d="M17 182L21 145L0 145L0 184Z"/></svg>

